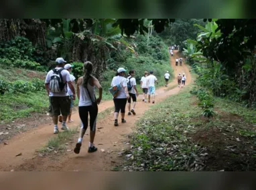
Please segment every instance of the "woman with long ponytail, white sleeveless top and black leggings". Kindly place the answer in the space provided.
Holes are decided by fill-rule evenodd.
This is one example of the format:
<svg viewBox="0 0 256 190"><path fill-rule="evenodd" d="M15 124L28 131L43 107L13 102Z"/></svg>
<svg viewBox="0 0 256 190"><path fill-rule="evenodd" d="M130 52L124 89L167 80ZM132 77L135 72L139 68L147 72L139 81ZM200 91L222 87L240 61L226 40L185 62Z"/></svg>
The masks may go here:
<svg viewBox="0 0 256 190"><path fill-rule="evenodd" d="M94 89L99 89L99 98L95 97ZM74 148L74 153L80 153L80 147L82 146L82 138L88 127L88 115L90 115L90 141L88 146L88 153L97 151L97 147L94 146L93 141L96 131L96 121L98 115L98 105L101 103L103 89L98 79L92 76L92 63L86 61L84 63L84 75L79 77L76 84L77 97L79 99L78 111L79 117L82 121L80 128L80 135Z"/></svg>

